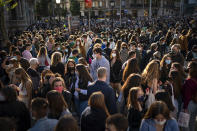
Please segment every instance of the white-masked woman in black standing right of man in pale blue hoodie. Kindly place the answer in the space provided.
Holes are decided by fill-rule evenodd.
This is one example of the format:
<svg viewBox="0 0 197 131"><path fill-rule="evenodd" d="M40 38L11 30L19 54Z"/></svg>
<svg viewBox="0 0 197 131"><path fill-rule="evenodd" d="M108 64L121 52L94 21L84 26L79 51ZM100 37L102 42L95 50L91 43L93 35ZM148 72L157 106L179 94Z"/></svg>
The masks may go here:
<svg viewBox="0 0 197 131"><path fill-rule="evenodd" d="M110 84L118 93L120 92L122 61L118 50L112 50L110 56Z"/></svg>

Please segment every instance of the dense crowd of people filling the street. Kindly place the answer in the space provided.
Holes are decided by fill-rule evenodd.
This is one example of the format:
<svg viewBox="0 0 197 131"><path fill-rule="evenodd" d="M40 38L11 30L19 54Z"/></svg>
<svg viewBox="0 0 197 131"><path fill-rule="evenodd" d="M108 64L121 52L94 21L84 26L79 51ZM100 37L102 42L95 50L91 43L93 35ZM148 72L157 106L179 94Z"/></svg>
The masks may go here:
<svg viewBox="0 0 197 131"><path fill-rule="evenodd" d="M196 18L41 27L0 51L1 131L197 129Z"/></svg>

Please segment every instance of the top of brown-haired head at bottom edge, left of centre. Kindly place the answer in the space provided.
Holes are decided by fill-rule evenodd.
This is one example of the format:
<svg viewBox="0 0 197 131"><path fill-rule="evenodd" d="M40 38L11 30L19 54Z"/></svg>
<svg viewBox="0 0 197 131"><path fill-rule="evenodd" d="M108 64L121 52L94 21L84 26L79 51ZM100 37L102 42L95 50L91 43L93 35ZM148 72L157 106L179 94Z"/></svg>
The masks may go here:
<svg viewBox="0 0 197 131"><path fill-rule="evenodd" d="M55 131L78 131L78 124L74 117L62 117L55 127Z"/></svg>

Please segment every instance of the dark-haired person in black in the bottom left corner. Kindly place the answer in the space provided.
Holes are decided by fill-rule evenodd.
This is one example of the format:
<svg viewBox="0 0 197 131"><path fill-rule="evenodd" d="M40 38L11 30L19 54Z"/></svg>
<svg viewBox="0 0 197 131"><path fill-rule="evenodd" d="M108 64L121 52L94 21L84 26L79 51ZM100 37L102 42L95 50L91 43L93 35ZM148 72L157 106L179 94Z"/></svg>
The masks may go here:
<svg viewBox="0 0 197 131"><path fill-rule="evenodd" d="M14 87L4 87L0 90L0 117L16 120L16 131L27 131L31 126L30 113L25 104L17 100Z"/></svg>

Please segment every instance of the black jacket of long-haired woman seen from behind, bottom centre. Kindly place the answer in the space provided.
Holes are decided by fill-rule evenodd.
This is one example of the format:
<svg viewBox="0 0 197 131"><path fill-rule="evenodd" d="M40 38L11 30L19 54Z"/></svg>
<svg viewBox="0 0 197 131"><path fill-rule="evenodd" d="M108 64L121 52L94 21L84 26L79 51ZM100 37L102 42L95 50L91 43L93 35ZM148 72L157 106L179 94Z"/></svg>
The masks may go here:
<svg viewBox="0 0 197 131"><path fill-rule="evenodd" d="M81 131L105 131L106 118L104 110L87 107L81 115Z"/></svg>

